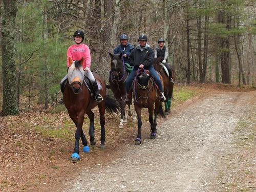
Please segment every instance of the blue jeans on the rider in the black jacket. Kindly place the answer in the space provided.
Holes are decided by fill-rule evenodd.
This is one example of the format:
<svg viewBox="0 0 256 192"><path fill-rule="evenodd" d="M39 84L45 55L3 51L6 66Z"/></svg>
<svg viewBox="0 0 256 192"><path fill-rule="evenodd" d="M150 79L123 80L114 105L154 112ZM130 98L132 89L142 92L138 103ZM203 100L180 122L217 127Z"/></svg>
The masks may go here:
<svg viewBox="0 0 256 192"><path fill-rule="evenodd" d="M161 79L160 79L159 75L157 74L156 70L154 69L154 67L150 66L150 67L146 67L145 69L150 71L150 74L152 75L155 82L157 83L157 86L159 87L160 91L163 92ZM133 71L127 77L127 80L126 80L126 91L127 91L127 93L131 90L131 86L132 86L136 71L137 71L136 69L133 69Z"/></svg>

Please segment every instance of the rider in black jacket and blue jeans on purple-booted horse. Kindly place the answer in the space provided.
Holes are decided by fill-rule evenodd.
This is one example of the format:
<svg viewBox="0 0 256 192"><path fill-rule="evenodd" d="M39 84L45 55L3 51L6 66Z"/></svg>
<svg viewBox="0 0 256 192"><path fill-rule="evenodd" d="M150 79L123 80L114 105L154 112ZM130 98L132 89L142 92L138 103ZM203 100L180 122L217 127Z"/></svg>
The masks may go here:
<svg viewBox="0 0 256 192"><path fill-rule="evenodd" d="M160 92L159 92L159 98L160 101L164 101L165 97L163 94L163 87L161 79L152 66L152 62L154 59L154 50L147 44L147 36L145 34L142 34L139 36L139 45L134 48L130 55L130 63L132 66L134 66L133 71L130 73L130 75L127 78L126 81L126 91L127 91L127 97L125 99L126 104L130 104L132 101L132 83L134 80L134 77L136 75L136 71L140 68L144 68L148 71L150 71L150 74L153 76Z"/></svg>

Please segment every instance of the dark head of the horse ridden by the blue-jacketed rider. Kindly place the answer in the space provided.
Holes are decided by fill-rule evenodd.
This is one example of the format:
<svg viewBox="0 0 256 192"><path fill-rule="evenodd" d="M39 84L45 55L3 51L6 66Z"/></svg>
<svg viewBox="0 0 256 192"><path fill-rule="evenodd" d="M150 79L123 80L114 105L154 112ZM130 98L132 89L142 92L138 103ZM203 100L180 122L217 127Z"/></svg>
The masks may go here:
<svg viewBox="0 0 256 192"><path fill-rule="evenodd" d="M109 55L111 57L111 79L112 81L120 81L120 79L122 78L120 76L124 75L125 73L124 63L122 60L122 53L112 54L109 52Z"/></svg>

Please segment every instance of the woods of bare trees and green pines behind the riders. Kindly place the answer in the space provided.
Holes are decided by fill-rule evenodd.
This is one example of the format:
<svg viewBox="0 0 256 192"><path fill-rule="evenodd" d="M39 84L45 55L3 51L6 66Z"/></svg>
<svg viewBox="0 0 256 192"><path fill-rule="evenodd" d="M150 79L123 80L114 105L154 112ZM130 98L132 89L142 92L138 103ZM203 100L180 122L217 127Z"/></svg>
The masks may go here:
<svg viewBox="0 0 256 192"><path fill-rule="evenodd" d="M66 51L84 30L93 71L108 80L108 52L129 35L146 34L155 48L164 37L177 81L255 86L254 0L6 1L0 0L0 111L18 114L61 97Z"/></svg>

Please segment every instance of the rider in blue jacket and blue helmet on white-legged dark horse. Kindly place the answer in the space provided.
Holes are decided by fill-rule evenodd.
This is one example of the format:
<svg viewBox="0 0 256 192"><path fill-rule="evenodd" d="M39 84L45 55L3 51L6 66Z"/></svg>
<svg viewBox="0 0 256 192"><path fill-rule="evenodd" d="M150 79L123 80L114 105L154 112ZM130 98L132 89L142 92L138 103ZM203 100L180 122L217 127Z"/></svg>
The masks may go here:
<svg viewBox="0 0 256 192"><path fill-rule="evenodd" d="M131 51L134 49L134 47L132 44L129 44L128 36L126 34L120 35L119 39L120 39L120 45L118 45L113 50L113 53L114 54L122 53L124 63L128 63L130 65L129 56L131 54ZM111 78L111 71L110 71L109 83L110 83L110 78Z"/></svg>

